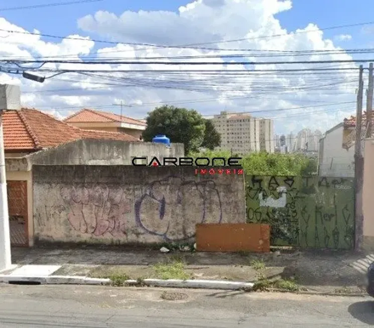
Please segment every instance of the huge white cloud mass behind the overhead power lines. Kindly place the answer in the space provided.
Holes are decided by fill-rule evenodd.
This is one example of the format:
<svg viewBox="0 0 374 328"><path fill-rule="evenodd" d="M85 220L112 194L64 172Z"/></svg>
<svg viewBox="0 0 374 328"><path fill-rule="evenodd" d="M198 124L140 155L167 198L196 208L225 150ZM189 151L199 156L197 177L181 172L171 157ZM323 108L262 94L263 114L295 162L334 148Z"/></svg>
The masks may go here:
<svg viewBox="0 0 374 328"><path fill-rule="evenodd" d="M187 2L188 0L186 0ZM342 52L321 56L282 55L274 50L297 52L300 50L336 50L331 40L314 24L288 32L275 15L290 10L291 1L280 0L198 0L186 3L178 13L166 11L130 12L119 16L99 11L78 20L79 35L87 41L59 40L45 42L38 35L12 33L0 35L0 56L35 58L40 56L78 60L97 50L103 60L113 58L164 57L173 61L175 56L211 56L235 53L235 58L194 58L177 61L208 61L217 65L95 65L48 64L42 69L96 69L103 73L62 74L46 79L45 83L17 79L22 84L23 103L39 108L50 108L67 116L72 107L96 107L116 111L113 103L123 101L123 114L135 118L146 116L161 102L194 108L209 116L224 110L251 111L254 116L274 117L276 131L289 132L299 127L326 130L354 114L356 71L332 72L258 72L256 70L326 67L328 64L269 64L225 65L229 61L308 61L351 59ZM26 32L0 18L0 29ZM37 32L39 33L39 32ZM46 31L47 33L47 31ZM151 46L110 45L95 43L96 39L141 44L185 45L201 44L205 49L155 48ZM281 35L281 36L279 36ZM264 36L275 36L267 37ZM225 42L227 40L238 40ZM209 48L219 48L212 50ZM255 49L247 57L244 51L227 49ZM262 52L259 52L261 50ZM271 51L269 51L271 50ZM273 52L272 52L273 50ZM246 52L248 53L248 52ZM261 57L259 57L261 54ZM272 55L272 57L269 57ZM90 55L91 56L91 55ZM166 58L165 58L166 57ZM167 58L169 57L169 58ZM354 67L352 64L333 64L335 68ZM82 68L83 67L83 68ZM248 69L249 71L242 71ZM147 70L147 72L118 72L118 70ZM192 70L195 72L178 72ZM201 72L204 70L204 72ZM255 71L253 71L255 70ZM170 72L173 71L173 72ZM218 74L217 71L220 71ZM221 71L224 71L223 73ZM44 72L47 76L49 72ZM12 75L0 75L0 83ZM352 101L350 104L331 103ZM320 107L313 107L320 105ZM312 107L311 107L312 106ZM295 108L295 109L289 109ZM266 111L259 113L260 110Z"/></svg>

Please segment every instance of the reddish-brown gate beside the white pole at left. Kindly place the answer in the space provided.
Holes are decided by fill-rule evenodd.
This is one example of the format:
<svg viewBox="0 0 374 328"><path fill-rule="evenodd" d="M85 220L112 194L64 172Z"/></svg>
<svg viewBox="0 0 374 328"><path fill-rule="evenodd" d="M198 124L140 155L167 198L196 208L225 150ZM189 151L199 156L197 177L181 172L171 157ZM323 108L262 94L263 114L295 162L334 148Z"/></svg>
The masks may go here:
<svg viewBox="0 0 374 328"><path fill-rule="evenodd" d="M27 181L7 181L12 246L29 246Z"/></svg>

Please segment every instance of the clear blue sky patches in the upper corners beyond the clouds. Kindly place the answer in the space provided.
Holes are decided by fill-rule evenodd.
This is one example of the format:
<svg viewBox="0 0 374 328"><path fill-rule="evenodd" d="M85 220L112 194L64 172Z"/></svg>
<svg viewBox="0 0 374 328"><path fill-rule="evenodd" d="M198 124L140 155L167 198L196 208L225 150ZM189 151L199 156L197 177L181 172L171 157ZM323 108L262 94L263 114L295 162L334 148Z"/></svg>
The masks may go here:
<svg viewBox="0 0 374 328"><path fill-rule="evenodd" d="M67 2L68 0L66 0ZM52 0L17 0L17 5L0 6L0 9L39 4L50 4ZM63 1L61 1L63 2ZM69 35L81 33L77 28L77 20L85 15L94 14L99 10L120 15L124 11L174 11L186 5L187 0L102 0L96 3L76 4L49 8L25 9L15 11L0 11L0 15L8 21L22 26L27 30L38 29L45 34ZM374 20L369 10L372 1L360 0L360 6L354 1L342 0L294 0L292 10L280 13L277 18L287 30L303 28L308 23L315 23L320 28L369 22ZM15 2L13 2L15 4ZM352 40L341 43L343 47L366 47L370 38L362 33L362 27L343 28L326 31L326 37L332 38L337 34L351 34ZM87 33L85 33L87 35ZM94 37L94 36L92 36ZM46 38L44 38L47 40Z"/></svg>

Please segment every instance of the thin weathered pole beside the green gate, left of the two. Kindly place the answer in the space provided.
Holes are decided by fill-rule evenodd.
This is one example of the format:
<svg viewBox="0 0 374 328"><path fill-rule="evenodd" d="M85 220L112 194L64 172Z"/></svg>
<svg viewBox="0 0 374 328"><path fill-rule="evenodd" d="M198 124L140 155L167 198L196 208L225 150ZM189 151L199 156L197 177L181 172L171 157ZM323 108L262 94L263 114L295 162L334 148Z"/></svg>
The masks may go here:
<svg viewBox="0 0 374 328"><path fill-rule="evenodd" d="M371 64L372 67L372 64ZM355 220L354 220L354 249L359 251L363 235L363 211L362 211L362 184L363 184L363 157L361 148L362 129L362 98L363 98L363 68L359 67L357 107L356 107L356 138L354 143L354 190L355 190Z"/></svg>

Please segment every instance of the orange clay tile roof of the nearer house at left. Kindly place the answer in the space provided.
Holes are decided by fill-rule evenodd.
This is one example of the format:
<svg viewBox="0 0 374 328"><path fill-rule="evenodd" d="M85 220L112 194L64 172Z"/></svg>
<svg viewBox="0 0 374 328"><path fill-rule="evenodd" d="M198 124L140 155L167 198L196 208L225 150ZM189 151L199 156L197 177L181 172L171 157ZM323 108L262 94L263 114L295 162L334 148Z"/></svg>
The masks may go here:
<svg viewBox="0 0 374 328"><path fill-rule="evenodd" d="M82 130L28 108L4 111L3 131L6 151L36 151L78 139L139 141L124 133Z"/></svg>

